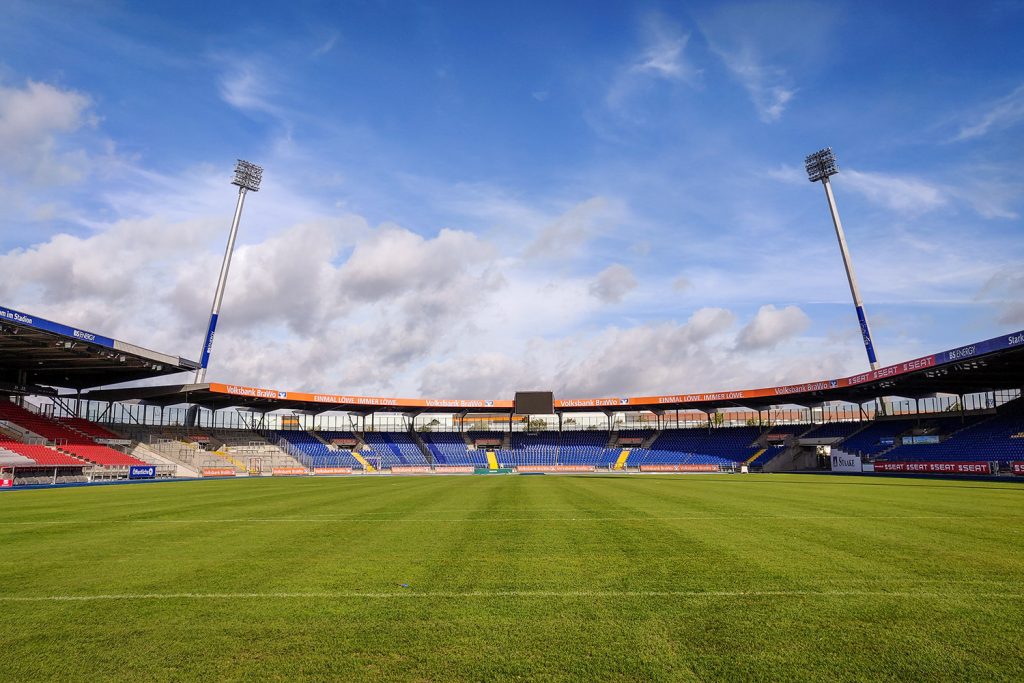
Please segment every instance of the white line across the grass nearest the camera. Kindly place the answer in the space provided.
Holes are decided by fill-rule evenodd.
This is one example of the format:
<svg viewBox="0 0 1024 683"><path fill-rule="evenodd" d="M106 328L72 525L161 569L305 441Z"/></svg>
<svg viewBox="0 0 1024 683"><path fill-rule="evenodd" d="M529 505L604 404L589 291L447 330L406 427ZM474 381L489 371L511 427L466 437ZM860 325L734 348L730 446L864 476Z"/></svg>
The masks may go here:
<svg viewBox="0 0 1024 683"><path fill-rule="evenodd" d="M403 591L313 592L313 593L114 593L100 595L0 595L0 602L97 602L116 600L393 600L469 598L830 598L896 597L937 598L963 596L1024 599L1016 592L967 594L937 591Z"/></svg>

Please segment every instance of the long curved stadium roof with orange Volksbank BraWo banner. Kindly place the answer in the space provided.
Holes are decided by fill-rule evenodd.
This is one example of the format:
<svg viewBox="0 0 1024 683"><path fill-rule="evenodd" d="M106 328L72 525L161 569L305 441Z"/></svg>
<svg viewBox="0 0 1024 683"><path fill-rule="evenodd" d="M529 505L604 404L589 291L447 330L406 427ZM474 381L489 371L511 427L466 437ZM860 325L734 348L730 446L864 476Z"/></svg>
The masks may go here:
<svg viewBox="0 0 1024 683"><path fill-rule="evenodd" d="M556 413L673 411L723 408L763 410L770 405L818 405L824 401L864 403L881 396L924 398L1024 387L1024 331L926 355L861 375L781 387L678 393L667 396L581 398L555 401ZM100 389L83 398L137 401L154 405L198 404L210 410L238 408L260 413L465 413L510 414L511 400L445 400L312 394L229 384L184 384L136 389Z"/></svg>

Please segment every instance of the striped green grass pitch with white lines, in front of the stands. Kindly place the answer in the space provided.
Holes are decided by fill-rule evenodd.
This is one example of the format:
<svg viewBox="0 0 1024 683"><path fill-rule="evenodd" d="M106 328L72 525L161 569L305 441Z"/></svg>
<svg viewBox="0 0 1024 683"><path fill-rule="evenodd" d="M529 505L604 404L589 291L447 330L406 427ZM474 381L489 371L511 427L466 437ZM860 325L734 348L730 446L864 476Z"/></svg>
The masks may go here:
<svg viewBox="0 0 1024 683"><path fill-rule="evenodd" d="M7 493L0 678L1019 681L1022 521L799 475Z"/></svg>

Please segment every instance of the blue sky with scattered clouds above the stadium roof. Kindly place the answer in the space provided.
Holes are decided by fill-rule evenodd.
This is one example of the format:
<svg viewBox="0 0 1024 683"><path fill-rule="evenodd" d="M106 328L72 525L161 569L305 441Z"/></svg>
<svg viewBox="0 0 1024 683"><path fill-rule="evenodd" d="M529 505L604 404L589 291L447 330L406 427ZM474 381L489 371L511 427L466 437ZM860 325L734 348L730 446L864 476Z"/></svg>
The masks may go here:
<svg viewBox="0 0 1024 683"><path fill-rule="evenodd" d="M1024 328L1024 3L7 2L0 301L210 378L743 388Z"/></svg>

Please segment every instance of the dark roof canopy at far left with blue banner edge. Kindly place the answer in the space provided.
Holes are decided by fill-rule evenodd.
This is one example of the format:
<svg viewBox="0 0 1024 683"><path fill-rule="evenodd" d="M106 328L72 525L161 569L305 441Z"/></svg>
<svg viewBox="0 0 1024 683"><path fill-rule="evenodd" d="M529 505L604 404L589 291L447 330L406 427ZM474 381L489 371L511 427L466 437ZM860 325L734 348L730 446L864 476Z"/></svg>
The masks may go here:
<svg viewBox="0 0 1024 683"><path fill-rule="evenodd" d="M0 392L53 393L195 372L194 360L158 353L0 306Z"/></svg>

